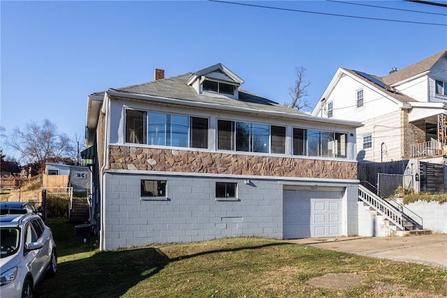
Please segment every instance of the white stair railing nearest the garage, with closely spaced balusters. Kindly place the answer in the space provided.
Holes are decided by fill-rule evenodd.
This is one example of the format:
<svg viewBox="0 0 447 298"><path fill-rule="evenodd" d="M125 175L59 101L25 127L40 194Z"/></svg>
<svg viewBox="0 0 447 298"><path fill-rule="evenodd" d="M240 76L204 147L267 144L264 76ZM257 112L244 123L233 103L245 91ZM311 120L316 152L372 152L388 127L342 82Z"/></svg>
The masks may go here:
<svg viewBox="0 0 447 298"><path fill-rule="evenodd" d="M395 209L393 205L383 200L372 191L369 191L365 186L358 185L358 198L372 207L372 209L378 211L380 214L386 217L388 221L394 223L401 230L405 230L404 217L402 212Z"/></svg>

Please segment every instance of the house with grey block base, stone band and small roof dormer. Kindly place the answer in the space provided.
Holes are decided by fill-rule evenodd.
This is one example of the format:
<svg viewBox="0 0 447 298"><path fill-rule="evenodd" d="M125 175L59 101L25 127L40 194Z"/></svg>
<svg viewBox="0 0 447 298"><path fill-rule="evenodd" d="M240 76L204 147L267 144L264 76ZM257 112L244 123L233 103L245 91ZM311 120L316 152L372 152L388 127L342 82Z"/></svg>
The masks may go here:
<svg viewBox="0 0 447 298"><path fill-rule="evenodd" d="M222 64L87 98L101 250L358 234L356 121L240 89ZM96 149L94 149L96 148ZM88 151L88 152L87 152Z"/></svg>

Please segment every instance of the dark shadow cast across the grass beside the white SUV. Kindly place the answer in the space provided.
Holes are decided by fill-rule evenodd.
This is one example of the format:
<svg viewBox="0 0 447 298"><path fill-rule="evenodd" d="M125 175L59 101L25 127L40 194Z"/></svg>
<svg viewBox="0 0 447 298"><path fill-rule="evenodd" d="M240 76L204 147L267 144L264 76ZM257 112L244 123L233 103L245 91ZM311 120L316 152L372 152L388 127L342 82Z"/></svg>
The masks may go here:
<svg viewBox="0 0 447 298"><path fill-rule="evenodd" d="M170 262L200 255L256 250L286 243L200 251L168 258L157 248L98 252L89 258L62 262L55 276L45 278L36 288L36 297L122 297L133 286L159 273Z"/></svg>

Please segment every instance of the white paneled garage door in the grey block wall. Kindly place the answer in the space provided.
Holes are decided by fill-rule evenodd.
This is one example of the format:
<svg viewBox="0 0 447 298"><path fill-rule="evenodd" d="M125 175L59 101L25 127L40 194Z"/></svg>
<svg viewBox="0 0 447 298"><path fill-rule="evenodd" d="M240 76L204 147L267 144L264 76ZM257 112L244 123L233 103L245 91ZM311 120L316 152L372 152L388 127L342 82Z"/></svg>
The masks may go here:
<svg viewBox="0 0 447 298"><path fill-rule="evenodd" d="M340 236L342 198L338 190L284 190L284 239Z"/></svg>

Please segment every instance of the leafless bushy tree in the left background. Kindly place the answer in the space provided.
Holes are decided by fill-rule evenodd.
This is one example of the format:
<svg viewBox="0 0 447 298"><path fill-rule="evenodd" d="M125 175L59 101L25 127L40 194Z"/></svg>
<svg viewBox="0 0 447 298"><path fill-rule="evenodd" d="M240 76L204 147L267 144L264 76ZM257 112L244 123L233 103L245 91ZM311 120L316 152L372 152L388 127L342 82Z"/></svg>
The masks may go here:
<svg viewBox="0 0 447 298"><path fill-rule="evenodd" d="M59 133L50 120L42 125L30 122L24 129L14 128L8 137L8 146L20 153L24 163L36 163L39 172L45 169L47 161L73 162L75 146L65 133Z"/></svg>

